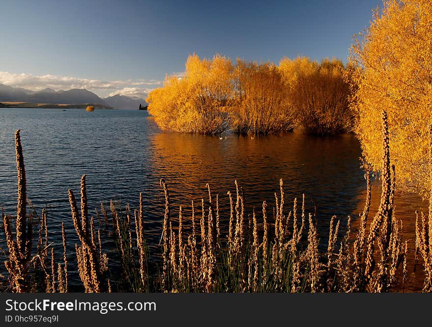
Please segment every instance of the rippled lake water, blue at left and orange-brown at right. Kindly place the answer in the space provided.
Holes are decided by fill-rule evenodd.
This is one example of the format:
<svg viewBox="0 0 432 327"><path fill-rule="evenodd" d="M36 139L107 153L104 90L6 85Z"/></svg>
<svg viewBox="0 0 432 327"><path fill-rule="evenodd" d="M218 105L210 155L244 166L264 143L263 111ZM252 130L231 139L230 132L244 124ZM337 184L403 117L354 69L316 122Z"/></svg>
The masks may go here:
<svg viewBox="0 0 432 327"><path fill-rule="evenodd" d="M190 200L199 203L207 197L205 185L209 183L213 193L219 194L225 231L229 219L226 192L235 191L234 180L243 187L250 212L253 206L260 209L264 200L271 208L283 178L287 205L296 197L301 199L303 193L307 211L314 212L316 205L323 242L331 216L336 215L346 226L351 215L355 226L365 199L361 149L353 134L315 137L295 131L255 139L231 134L220 140L162 132L147 111L0 109L0 204L5 213L16 211L16 129L21 129L27 196L39 213L45 205L49 207L50 238L59 250L61 222L71 247L78 241L67 190L79 195L82 174L87 176L89 209L99 209L101 202L110 199L135 208L142 192L145 230L153 250L163 219L161 178L170 191L173 216L180 204L188 215ZM379 192L379 181L374 181L373 209L378 207ZM418 196L396 197L396 217L404 221L411 249L414 212L426 207ZM94 210L90 212L94 215Z"/></svg>

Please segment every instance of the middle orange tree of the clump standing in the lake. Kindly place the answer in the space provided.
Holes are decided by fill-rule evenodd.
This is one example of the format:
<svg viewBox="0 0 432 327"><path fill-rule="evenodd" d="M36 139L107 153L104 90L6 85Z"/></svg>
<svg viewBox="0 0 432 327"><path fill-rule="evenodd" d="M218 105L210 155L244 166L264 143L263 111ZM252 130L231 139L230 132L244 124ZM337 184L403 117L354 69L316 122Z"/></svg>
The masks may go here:
<svg viewBox="0 0 432 327"><path fill-rule="evenodd" d="M235 81L234 130L267 135L294 128L294 110L277 66L237 59Z"/></svg>

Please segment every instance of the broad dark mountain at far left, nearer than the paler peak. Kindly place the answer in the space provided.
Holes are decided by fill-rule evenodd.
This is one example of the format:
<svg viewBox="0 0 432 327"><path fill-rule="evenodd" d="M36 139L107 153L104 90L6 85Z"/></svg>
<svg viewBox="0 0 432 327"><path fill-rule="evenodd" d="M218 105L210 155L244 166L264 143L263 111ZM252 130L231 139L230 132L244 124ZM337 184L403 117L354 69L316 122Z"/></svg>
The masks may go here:
<svg viewBox="0 0 432 327"><path fill-rule="evenodd" d="M110 108L110 105L99 98L93 92L86 89L72 89L68 91L54 91L53 89L46 88L41 91L31 91L18 87L11 87L0 84L0 102L26 102L28 105L44 104L36 107L53 107L51 105L58 104L77 104L81 107L82 104L95 104L96 107ZM33 106L35 107L35 106ZM55 106L54 106L55 107Z"/></svg>

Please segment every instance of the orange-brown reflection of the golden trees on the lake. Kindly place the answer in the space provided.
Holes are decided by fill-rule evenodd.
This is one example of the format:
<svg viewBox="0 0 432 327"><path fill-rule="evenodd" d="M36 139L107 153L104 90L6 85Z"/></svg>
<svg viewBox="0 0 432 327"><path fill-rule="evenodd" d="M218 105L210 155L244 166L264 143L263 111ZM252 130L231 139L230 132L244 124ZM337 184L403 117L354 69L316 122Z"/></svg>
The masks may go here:
<svg viewBox="0 0 432 327"><path fill-rule="evenodd" d="M309 211L317 206L321 231L333 214L346 217L357 206L363 188L359 169L360 148L353 135L317 138L299 132L251 139L231 135L217 137L156 133L151 139L151 163L155 175L168 181L175 204L205 197L205 184L228 205L227 190L237 179L246 205L260 208L274 203L279 178L287 201L306 195ZM323 234L324 237L324 234Z"/></svg>

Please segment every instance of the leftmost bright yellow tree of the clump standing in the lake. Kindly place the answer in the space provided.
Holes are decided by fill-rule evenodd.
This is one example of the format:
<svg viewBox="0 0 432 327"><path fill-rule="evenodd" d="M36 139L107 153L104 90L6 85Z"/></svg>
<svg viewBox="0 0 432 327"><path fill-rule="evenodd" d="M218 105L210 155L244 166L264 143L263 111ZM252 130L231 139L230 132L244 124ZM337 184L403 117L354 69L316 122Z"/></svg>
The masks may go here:
<svg viewBox="0 0 432 327"><path fill-rule="evenodd" d="M221 55L213 60L190 55L183 77L167 76L162 88L150 92L148 111L164 130L223 133L229 127L232 72L231 61Z"/></svg>

